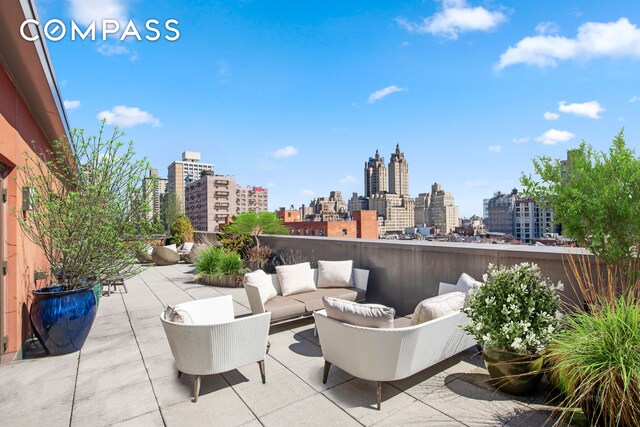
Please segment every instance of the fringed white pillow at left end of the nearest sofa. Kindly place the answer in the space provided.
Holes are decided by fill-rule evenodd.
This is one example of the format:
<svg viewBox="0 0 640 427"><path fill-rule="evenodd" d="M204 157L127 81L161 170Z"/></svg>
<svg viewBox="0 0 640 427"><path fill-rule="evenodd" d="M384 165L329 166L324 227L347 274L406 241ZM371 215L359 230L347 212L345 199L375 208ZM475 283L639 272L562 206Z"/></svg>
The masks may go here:
<svg viewBox="0 0 640 427"><path fill-rule="evenodd" d="M396 311L391 307L363 305L339 298L323 297L327 316L367 328L393 328Z"/></svg>

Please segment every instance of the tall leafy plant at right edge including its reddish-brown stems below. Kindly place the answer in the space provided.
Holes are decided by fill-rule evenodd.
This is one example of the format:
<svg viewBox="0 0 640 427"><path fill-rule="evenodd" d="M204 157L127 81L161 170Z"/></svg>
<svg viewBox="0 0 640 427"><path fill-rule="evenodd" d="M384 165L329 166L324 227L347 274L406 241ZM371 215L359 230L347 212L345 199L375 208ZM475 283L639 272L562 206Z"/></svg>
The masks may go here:
<svg viewBox="0 0 640 427"><path fill-rule="evenodd" d="M640 298L640 158L623 131L608 152L583 142L566 160L539 157L533 166L538 178L523 175L524 192L554 212L563 234L597 257L568 259L581 296L590 305L620 293ZM600 261L605 266L594 273Z"/></svg>

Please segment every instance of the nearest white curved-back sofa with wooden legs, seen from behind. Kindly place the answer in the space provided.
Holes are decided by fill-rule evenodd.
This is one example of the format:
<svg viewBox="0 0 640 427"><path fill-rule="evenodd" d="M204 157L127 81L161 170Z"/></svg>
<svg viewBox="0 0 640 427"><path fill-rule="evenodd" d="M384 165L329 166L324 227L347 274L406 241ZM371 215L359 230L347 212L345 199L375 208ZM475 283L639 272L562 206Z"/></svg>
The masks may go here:
<svg viewBox="0 0 640 427"><path fill-rule="evenodd" d="M457 290L465 291L441 283L438 295ZM314 317L325 360L323 383L327 382L331 365L355 377L376 381L378 410L382 382L407 378L476 345L475 339L459 328L467 322L461 311L394 329L350 325L328 317L325 311L314 313ZM411 325L407 318L396 322L395 325Z"/></svg>

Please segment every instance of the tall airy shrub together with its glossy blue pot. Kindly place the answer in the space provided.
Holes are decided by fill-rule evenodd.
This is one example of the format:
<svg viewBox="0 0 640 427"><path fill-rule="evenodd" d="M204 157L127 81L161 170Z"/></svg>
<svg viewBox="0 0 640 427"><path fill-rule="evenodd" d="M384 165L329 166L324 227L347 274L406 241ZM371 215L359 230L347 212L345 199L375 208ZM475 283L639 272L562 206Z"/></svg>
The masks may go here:
<svg viewBox="0 0 640 427"><path fill-rule="evenodd" d="M150 230L142 189L148 163L134 159L133 143L125 147L118 129L109 138L103 132L104 122L95 137L74 130L70 141L54 141L46 153L26 153L19 171L30 209L14 215L43 250L56 280L33 291L29 311L34 333L51 355L82 348L100 282L139 272L138 237Z"/></svg>

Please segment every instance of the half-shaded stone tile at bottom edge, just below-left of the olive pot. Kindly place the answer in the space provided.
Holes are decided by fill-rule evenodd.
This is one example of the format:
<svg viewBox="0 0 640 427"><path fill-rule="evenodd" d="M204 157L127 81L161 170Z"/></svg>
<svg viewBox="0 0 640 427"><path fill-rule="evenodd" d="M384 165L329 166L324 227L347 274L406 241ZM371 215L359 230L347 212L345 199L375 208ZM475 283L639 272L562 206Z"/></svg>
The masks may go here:
<svg viewBox="0 0 640 427"><path fill-rule="evenodd" d="M421 399L424 403L467 425L504 424L526 406L497 392L456 379Z"/></svg>

